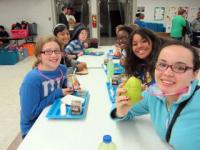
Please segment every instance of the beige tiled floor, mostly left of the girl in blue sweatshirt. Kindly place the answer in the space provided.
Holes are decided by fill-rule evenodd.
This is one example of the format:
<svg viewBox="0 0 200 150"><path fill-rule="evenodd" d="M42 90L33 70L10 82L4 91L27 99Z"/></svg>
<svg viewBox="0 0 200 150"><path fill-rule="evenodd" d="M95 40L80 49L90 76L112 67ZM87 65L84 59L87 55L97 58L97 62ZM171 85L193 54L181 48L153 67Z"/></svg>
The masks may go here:
<svg viewBox="0 0 200 150"><path fill-rule="evenodd" d="M104 42L107 40L104 39ZM113 44L114 39L111 41ZM34 57L28 57L16 65L0 65L0 150L5 150L19 134L19 87L34 60ZM19 138L16 138L14 145L18 142Z"/></svg>

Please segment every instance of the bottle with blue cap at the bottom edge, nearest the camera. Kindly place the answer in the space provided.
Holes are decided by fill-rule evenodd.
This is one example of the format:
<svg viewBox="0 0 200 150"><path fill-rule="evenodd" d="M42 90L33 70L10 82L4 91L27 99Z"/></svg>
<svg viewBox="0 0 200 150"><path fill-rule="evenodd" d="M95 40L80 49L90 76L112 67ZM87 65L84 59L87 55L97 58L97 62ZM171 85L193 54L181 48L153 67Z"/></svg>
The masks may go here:
<svg viewBox="0 0 200 150"><path fill-rule="evenodd" d="M104 135L98 150L117 150L117 146L112 142L112 137L110 135Z"/></svg>

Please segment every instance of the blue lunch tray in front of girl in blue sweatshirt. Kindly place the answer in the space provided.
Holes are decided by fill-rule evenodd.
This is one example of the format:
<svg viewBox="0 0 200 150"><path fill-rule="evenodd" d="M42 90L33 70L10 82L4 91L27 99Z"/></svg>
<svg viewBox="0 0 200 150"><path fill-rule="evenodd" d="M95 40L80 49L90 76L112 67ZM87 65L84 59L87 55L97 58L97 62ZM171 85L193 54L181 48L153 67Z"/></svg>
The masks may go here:
<svg viewBox="0 0 200 150"><path fill-rule="evenodd" d="M82 112L80 114L73 115L70 110L70 105L66 105L66 115L60 115L61 98L59 98L52 104L46 117L48 119L84 119L86 116L87 105L90 97L89 92L85 91L84 96L79 95L77 92L74 92L74 95L85 98L85 101L82 104Z"/></svg>

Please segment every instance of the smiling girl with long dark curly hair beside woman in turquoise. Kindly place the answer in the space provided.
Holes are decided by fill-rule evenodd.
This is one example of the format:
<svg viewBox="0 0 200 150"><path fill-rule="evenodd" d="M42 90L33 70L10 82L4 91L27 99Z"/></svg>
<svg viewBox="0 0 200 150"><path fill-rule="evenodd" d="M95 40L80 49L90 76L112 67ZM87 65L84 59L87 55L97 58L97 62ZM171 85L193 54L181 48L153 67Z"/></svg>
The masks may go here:
<svg viewBox="0 0 200 150"><path fill-rule="evenodd" d="M128 76L139 78L144 88L154 83L152 63L164 41L145 28L138 28L130 35L130 45L126 49L125 72Z"/></svg>

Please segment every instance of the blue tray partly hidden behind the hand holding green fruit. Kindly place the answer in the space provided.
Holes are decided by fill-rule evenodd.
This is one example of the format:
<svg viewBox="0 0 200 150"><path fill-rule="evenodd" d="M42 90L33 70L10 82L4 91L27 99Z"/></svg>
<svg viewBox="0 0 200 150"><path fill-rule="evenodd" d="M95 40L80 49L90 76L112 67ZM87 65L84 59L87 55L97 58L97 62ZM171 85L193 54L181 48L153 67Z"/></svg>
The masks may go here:
<svg viewBox="0 0 200 150"><path fill-rule="evenodd" d="M110 82L106 82L106 87L109 95L109 99L111 103L115 103L116 93L117 93L117 85L112 85Z"/></svg>

